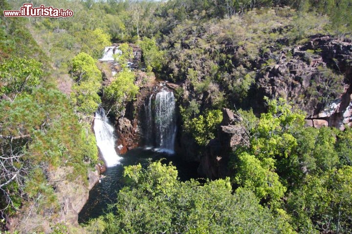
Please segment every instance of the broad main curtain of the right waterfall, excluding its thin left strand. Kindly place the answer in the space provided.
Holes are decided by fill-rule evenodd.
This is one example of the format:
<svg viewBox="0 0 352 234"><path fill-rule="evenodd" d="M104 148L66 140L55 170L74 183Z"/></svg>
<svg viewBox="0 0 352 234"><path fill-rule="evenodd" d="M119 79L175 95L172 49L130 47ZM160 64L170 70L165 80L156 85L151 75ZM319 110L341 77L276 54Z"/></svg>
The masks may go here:
<svg viewBox="0 0 352 234"><path fill-rule="evenodd" d="M155 96L156 147L174 153L176 136L174 93L162 90Z"/></svg>

